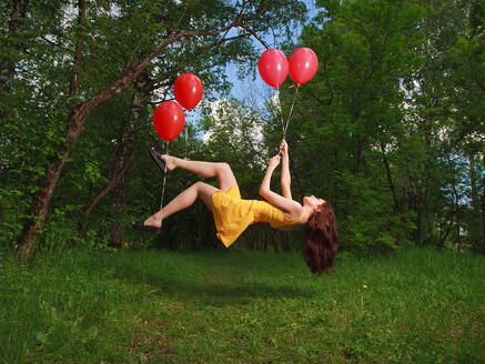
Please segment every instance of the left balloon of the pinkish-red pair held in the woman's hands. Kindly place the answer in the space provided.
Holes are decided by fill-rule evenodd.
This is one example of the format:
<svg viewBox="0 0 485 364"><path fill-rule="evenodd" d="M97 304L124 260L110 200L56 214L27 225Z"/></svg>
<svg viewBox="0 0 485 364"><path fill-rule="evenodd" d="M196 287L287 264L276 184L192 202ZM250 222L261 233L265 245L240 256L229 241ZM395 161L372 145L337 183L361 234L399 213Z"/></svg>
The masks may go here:
<svg viewBox="0 0 485 364"><path fill-rule="evenodd" d="M277 49L269 49L261 54L257 70L263 81L276 89L287 75L286 55Z"/></svg>

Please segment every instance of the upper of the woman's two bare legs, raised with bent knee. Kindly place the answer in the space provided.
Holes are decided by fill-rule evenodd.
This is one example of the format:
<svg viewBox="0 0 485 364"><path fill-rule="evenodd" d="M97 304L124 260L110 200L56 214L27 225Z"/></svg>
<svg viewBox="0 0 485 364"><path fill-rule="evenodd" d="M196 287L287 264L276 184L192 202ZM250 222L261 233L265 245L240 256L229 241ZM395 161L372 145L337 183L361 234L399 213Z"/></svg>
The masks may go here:
<svg viewBox="0 0 485 364"><path fill-rule="evenodd" d="M229 191L229 189L234 184L238 184L231 166L224 162L188 161L166 154L162 155L162 160L165 162L165 165L170 171L175 168L181 168L204 178L216 176L219 180L219 188L222 191Z"/></svg>

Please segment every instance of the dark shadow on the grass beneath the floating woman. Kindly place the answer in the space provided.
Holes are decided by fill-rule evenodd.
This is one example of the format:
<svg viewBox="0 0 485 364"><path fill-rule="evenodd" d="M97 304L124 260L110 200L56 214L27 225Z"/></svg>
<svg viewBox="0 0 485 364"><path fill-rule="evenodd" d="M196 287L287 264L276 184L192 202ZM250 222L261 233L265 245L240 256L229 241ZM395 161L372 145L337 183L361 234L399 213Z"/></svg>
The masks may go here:
<svg viewBox="0 0 485 364"><path fill-rule="evenodd" d="M216 306L254 300L311 299L319 294L315 285L293 281L289 262L275 257L255 253L249 257L225 251L81 252L65 262L64 270L75 266L82 276L98 276L102 281L114 279L119 281L117 284L141 287L150 292L146 299L150 295L170 296L176 301Z"/></svg>

